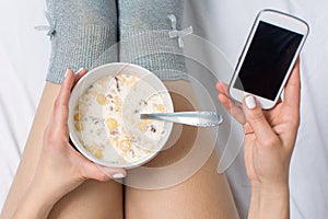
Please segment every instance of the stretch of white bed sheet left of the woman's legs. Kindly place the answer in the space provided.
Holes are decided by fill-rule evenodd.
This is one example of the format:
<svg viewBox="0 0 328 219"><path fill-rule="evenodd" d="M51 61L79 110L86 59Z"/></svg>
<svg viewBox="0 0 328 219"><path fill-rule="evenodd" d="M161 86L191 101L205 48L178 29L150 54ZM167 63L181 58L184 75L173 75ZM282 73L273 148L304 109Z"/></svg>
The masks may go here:
<svg viewBox="0 0 328 219"><path fill-rule="evenodd" d="M49 44L45 1L0 1L0 209L15 174L42 94Z"/></svg>

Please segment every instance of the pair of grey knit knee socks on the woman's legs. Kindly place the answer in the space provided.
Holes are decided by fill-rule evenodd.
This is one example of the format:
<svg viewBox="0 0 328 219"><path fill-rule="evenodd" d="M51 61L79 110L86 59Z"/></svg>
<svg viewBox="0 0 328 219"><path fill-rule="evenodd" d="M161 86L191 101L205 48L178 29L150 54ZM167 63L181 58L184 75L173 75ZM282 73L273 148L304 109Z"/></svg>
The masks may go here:
<svg viewBox="0 0 328 219"><path fill-rule="evenodd" d="M124 61L162 80L186 79L185 59L172 23L180 28L183 0L47 0L51 55L47 80L61 83L67 69L89 70Z"/></svg>

